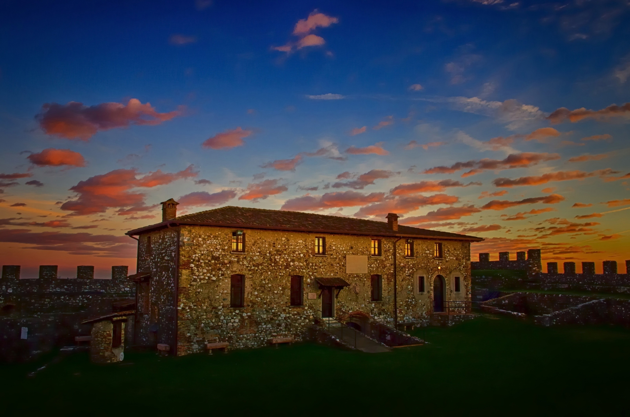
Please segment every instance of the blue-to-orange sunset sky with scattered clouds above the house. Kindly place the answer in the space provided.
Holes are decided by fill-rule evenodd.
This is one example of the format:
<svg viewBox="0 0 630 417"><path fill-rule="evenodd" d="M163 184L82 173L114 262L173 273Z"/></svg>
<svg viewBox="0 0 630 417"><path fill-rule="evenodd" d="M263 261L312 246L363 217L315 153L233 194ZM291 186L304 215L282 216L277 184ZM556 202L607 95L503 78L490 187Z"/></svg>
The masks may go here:
<svg viewBox="0 0 630 417"><path fill-rule="evenodd" d="M3 265L135 270L124 233L238 205L630 259L630 3L0 5ZM562 270L562 267L560 267Z"/></svg>

